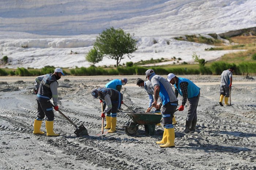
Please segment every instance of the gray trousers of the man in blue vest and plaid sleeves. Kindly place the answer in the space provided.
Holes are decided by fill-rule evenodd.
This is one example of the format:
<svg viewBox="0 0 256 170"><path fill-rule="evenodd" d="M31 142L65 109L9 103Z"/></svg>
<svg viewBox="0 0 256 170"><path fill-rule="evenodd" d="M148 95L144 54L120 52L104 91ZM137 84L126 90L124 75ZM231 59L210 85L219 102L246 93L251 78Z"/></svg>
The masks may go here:
<svg viewBox="0 0 256 170"><path fill-rule="evenodd" d="M196 97L188 98L187 121L192 121L197 119L196 109L197 109L199 98L200 98L200 91Z"/></svg>

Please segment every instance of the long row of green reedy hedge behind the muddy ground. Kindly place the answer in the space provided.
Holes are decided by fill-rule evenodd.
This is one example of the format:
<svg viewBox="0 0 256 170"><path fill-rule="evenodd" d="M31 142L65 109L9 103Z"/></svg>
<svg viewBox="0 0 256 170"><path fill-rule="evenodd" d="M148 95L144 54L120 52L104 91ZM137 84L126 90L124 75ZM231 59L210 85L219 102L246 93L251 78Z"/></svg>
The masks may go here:
<svg viewBox="0 0 256 170"><path fill-rule="evenodd" d="M184 74L203 74L203 75L220 75L223 70L230 67L235 68L236 75L256 75L256 62L244 62L240 64L229 64L225 62L213 62L210 67L200 68L162 68L162 67L117 67L117 68L97 68L97 67L81 67L70 70L71 75L75 76L93 76L93 75L144 75L149 68L153 69L159 75L167 75L174 73L178 75ZM5 71L0 69L0 76L18 75L18 76L39 76L53 73L54 67L44 67L41 71L27 70L26 68L18 68L16 71ZM67 72L64 71L64 74Z"/></svg>

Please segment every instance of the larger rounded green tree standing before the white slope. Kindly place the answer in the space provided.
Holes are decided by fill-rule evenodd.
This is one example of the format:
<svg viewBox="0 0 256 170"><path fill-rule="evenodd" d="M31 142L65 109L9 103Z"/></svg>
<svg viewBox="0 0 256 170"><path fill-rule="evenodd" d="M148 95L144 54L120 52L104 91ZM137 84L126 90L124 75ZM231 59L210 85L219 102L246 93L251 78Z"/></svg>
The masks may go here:
<svg viewBox="0 0 256 170"><path fill-rule="evenodd" d="M113 27L102 31L96 37L94 46L101 54L108 56L110 59L116 60L116 67L126 54L131 59L130 53L137 50L136 40L129 33L125 33L123 29L114 29Z"/></svg>

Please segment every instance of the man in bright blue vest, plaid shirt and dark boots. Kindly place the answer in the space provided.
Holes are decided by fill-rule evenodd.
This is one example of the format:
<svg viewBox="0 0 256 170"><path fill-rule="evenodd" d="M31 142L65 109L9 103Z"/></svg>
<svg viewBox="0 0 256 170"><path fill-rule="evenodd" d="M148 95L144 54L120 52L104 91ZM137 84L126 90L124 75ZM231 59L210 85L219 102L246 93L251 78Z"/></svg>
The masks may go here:
<svg viewBox="0 0 256 170"><path fill-rule="evenodd" d="M178 78L173 73L168 74L167 80L170 84L174 85L176 97L178 97L178 94L182 96L181 106L178 108L178 111L184 110L184 106L188 100L188 115L183 132L189 133L190 131L195 131L197 122L196 109L200 97L200 88L189 79Z"/></svg>

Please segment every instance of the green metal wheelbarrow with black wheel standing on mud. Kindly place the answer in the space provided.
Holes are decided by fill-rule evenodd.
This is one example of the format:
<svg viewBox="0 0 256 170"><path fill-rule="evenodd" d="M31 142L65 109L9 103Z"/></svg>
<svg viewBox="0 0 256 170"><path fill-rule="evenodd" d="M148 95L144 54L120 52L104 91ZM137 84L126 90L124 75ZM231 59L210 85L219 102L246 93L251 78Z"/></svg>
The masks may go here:
<svg viewBox="0 0 256 170"><path fill-rule="evenodd" d="M131 136L138 133L139 125L145 125L145 131L154 135L155 125L161 122L162 115L156 113L126 113L129 116L128 122L122 126L125 134Z"/></svg>

